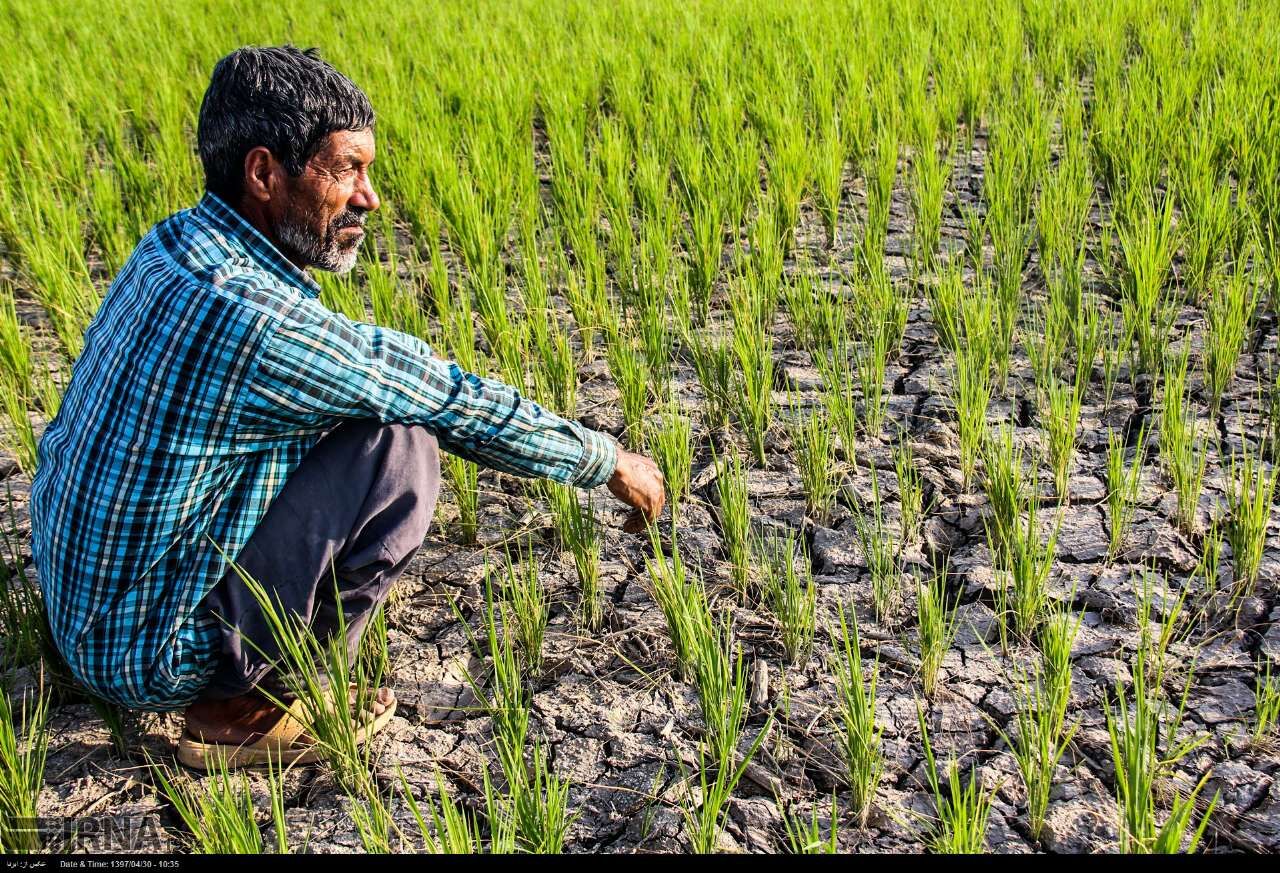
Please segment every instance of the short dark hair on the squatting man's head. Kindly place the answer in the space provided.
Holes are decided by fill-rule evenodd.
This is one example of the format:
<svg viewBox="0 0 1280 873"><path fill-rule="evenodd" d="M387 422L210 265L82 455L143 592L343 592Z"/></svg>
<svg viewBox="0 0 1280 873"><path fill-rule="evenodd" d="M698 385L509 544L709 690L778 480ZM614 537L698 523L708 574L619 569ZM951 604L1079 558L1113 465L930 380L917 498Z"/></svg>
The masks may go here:
<svg viewBox="0 0 1280 873"><path fill-rule="evenodd" d="M205 187L238 198L251 148L265 146L289 175L300 175L330 133L372 125L369 97L315 49L237 49L214 67L200 102L196 141Z"/></svg>

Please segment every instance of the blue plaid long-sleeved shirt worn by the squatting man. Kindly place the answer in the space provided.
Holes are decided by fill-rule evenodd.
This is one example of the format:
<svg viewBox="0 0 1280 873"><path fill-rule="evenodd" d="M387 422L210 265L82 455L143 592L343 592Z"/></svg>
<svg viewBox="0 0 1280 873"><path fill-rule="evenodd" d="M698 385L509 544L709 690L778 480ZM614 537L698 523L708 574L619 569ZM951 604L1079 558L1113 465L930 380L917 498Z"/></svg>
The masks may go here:
<svg viewBox="0 0 1280 873"><path fill-rule="evenodd" d="M326 308L223 200L156 224L84 333L38 445L32 550L54 641L90 690L195 700L220 657L201 605L316 440L344 419L425 425L448 452L593 488L617 447L417 337ZM269 582L270 580L264 580Z"/></svg>

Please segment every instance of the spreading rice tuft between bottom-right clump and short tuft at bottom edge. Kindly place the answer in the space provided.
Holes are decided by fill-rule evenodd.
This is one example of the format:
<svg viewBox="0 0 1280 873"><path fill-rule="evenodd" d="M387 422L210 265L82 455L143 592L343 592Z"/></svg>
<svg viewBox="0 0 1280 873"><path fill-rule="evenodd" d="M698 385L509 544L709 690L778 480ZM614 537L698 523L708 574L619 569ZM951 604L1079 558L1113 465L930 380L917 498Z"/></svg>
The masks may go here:
<svg viewBox="0 0 1280 873"><path fill-rule="evenodd" d="M1027 827L1032 838L1039 840L1053 790L1053 773L1079 725L1065 727L1065 708L1059 707L1059 693L1043 672L1015 673L1015 685L1018 710L1012 735L989 717L988 722L1018 763L1027 789Z"/></svg>

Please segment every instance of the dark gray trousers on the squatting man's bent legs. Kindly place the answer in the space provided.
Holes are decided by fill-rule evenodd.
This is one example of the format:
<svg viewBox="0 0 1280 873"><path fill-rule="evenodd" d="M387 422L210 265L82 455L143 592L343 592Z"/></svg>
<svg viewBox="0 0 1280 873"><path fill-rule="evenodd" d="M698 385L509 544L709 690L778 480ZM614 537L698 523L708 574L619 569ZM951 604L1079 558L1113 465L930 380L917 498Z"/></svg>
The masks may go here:
<svg viewBox="0 0 1280 873"><path fill-rule="evenodd" d="M370 617L422 544L439 489L439 451L425 428L344 421L307 452L236 563L317 639L338 630L340 603L355 658ZM285 694L273 671L279 648L234 568L205 603L227 623L219 621L221 659L204 696Z"/></svg>

